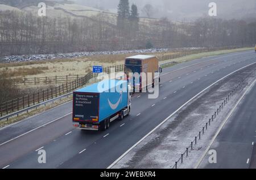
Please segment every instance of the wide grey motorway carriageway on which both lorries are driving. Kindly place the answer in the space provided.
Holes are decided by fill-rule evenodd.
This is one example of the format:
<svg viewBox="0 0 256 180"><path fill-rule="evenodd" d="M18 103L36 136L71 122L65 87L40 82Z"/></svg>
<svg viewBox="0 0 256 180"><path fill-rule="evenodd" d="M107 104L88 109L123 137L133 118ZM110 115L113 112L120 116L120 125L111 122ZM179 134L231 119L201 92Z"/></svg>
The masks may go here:
<svg viewBox="0 0 256 180"><path fill-rule="evenodd" d="M127 149L210 84L256 62L254 50L206 57L163 69L159 97L133 97L131 114L105 132L72 126L72 102L0 130L0 168L108 168ZM46 151L46 164L38 151Z"/></svg>

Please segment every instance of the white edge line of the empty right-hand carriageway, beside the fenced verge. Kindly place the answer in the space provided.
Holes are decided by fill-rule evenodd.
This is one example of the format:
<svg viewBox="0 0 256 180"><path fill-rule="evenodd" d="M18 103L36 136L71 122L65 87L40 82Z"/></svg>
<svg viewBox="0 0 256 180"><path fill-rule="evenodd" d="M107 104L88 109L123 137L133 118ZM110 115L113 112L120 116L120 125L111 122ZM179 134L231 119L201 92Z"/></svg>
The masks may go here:
<svg viewBox="0 0 256 180"><path fill-rule="evenodd" d="M254 63L253 63L254 64ZM249 88L246 89L246 91L243 93L243 95L240 97L240 99L237 101L236 105L234 105L233 109L229 112L228 116L224 119L224 121L222 122L220 128L218 128L218 131L216 132L216 134L213 136L210 144L208 145L207 149L205 150L205 152L203 153L203 156L200 157L199 161L197 162L195 169L197 169L199 167L199 165L201 164L201 162L203 161L205 155L207 155L207 152L209 151L210 147L212 146L212 144L214 143L215 139L217 138L218 134L220 133L220 131L222 130L222 128L226 125L226 122L228 122L228 119L231 117L231 115L234 113L234 111L236 110L238 104L240 104L240 102L242 101L243 97L245 97L245 95L247 94L247 92L250 91L251 87L254 86L254 84L256 83L256 79L254 80L254 82L250 85Z"/></svg>

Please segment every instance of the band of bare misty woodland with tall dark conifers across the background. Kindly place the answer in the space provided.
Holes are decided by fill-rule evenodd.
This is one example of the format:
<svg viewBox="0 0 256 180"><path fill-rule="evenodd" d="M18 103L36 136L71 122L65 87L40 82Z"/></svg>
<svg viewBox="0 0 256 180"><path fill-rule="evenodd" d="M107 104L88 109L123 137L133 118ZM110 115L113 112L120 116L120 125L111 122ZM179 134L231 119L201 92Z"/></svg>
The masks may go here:
<svg viewBox="0 0 256 180"><path fill-rule="evenodd" d="M140 19L138 7L120 0L117 18L39 17L0 12L0 55L67 53L144 48L180 48L256 43L256 20L204 17L192 23Z"/></svg>

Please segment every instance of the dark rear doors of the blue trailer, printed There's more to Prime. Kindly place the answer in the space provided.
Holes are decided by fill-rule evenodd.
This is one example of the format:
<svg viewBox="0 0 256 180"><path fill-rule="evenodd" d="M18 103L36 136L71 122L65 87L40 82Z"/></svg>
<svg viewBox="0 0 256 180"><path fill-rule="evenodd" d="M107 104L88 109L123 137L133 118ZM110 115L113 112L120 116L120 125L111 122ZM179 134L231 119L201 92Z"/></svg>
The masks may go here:
<svg viewBox="0 0 256 180"><path fill-rule="evenodd" d="M98 119L100 95L75 92L73 95L73 121L95 121Z"/></svg>

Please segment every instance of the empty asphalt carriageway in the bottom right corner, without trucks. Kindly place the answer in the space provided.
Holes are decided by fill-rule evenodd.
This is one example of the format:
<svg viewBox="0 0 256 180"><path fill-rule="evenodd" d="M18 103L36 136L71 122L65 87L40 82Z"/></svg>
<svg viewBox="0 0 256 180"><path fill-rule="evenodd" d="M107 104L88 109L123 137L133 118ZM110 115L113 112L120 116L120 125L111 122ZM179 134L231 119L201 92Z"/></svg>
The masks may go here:
<svg viewBox="0 0 256 180"><path fill-rule="evenodd" d="M256 168L256 85L243 98L228 119L210 149L217 152L217 163L210 164L205 156L199 168L248 169Z"/></svg>

